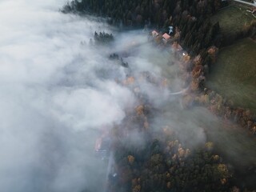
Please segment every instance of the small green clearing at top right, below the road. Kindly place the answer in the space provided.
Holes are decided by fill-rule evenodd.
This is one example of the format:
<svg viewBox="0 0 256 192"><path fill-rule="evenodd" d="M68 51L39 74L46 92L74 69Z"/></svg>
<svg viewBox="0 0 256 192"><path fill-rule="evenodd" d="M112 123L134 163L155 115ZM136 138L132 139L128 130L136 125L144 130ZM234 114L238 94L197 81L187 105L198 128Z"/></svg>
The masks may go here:
<svg viewBox="0 0 256 192"><path fill-rule="evenodd" d="M218 11L211 21L219 22L222 33L232 34L242 30L242 27L252 22L255 18L247 12L248 8L242 5L233 5Z"/></svg>

